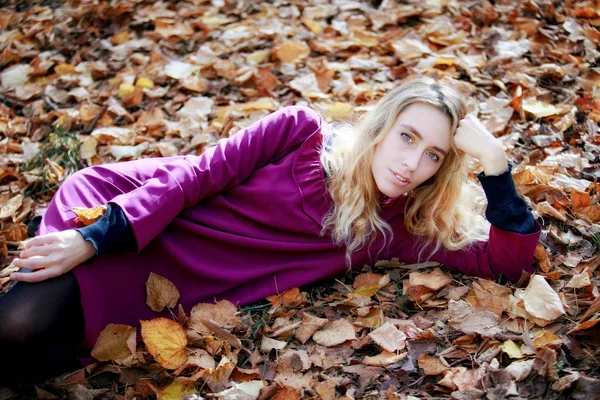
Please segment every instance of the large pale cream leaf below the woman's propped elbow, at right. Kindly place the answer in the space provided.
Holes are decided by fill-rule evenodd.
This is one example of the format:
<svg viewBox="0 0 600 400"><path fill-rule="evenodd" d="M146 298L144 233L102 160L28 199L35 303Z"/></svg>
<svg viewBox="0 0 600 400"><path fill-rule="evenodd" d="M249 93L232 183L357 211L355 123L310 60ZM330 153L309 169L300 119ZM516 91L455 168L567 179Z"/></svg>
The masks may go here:
<svg viewBox="0 0 600 400"><path fill-rule="evenodd" d="M522 300L525 310L531 316L547 321L546 324L565 314L560 297L541 275L531 277Z"/></svg>

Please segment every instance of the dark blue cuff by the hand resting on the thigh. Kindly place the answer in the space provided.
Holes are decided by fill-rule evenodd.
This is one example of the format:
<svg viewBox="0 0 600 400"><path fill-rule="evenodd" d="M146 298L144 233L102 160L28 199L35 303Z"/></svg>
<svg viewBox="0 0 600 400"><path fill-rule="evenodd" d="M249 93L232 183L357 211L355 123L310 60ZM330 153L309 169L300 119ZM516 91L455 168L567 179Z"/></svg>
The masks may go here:
<svg viewBox="0 0 600 400"><path fill-rule="evenodd" d="M137 249L137 242L129 221L121 207L113 203L108 204L106 213L96 222L75 230L94 245L97 256Z"/></svg>

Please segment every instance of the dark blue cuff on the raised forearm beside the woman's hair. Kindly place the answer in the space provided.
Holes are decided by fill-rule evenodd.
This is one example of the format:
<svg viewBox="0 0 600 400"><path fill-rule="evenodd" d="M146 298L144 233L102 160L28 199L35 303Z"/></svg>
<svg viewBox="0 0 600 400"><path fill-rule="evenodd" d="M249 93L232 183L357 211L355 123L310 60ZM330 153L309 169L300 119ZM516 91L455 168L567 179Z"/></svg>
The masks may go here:
<svg viewBox="0 0 600 400"><path fill-rule="evenodd" d="M511 167L500 175L477 175L488 206L485 211L487 220L497 228L520 234L537 232L538 227L525 200L519 196L512 179Z"/></svg>

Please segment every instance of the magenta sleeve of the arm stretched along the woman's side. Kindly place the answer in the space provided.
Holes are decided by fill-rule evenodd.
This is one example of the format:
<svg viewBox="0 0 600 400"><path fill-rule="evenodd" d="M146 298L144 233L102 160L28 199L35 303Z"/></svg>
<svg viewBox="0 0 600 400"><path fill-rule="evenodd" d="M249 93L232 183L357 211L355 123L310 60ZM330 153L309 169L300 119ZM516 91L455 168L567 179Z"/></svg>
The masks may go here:
<svg viewBox="0 0 600 400"><path fill-rule="evenodd" d="M319 114L310 108L283 108L220 140L200 156L174 157L111 203L125 213L139 251L183 209L240 184L254 170L300 146L321 124Z"/></svg>

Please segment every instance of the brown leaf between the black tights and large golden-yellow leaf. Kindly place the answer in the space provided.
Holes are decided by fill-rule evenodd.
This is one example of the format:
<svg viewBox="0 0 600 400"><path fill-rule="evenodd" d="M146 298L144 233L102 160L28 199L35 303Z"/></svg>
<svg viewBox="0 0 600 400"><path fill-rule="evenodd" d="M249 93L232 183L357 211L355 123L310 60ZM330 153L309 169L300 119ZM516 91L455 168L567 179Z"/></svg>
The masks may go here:
<svg viewBox="0 0 600 400"><path fill-rule="evenodd" d="M92 357L98 361L123 361L135 354L135 337L132 326L108 324L96 340Z"/></svg>

